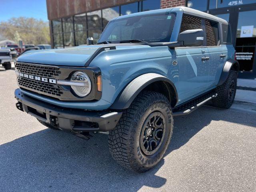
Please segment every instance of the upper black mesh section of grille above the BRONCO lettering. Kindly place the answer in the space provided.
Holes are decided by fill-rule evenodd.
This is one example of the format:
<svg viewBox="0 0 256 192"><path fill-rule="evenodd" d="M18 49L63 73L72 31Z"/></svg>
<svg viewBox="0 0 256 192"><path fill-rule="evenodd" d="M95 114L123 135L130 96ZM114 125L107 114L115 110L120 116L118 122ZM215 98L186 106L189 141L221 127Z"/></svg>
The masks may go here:
<svg viewBox="0 0 256 192"><path fill-rule="evenodd" d="M41 77L53 78L53 76L58 76L61 74L59 68L56 67L48 67L48 66L40 66L35 64L27 64L27 63L15 63L16 69L19 72L25 74L31 74Z"/></svg>

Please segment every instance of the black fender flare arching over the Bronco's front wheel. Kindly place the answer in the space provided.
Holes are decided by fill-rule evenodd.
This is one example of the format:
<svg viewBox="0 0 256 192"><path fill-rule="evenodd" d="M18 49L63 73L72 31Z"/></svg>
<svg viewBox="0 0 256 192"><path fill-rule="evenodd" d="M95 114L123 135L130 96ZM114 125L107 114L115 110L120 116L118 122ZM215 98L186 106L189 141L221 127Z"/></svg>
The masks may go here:
<svg viewBox="0 0 256 192"><path fill-rule="evenodd" d="M157 82L157 81L163 81L167 83L169 86L171 86L172 91L175 94L175 101L174 106L178 102L178 94L176 87L174 86L174 83L168 79L165 76L162 76L160 74L156 73L147 73L140 75L136 77L134 80L132 80L123 90L120 92L120 94L117 96L114 103L110 106L111 109L117 109L122 110L126 109L130 106L132 101L136 98L136 96L144 89L146 86Z"/></svg>

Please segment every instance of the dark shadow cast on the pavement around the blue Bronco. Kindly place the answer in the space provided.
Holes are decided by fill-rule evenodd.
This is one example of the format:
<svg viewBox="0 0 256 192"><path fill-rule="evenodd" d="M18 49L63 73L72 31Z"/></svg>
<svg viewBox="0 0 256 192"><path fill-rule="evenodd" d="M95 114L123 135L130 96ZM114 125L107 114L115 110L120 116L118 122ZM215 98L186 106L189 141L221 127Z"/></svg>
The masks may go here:
<svg viewBox="0 0 256 192"><path fill-rule="evenodd" d="M165 156L186 144L214 121L255 127L230 110L202 107L174 118L171 144ZM238 112L236 112L238 113ZM164 159L152 170L137 174L124 170L108 152L108 136L94 134L89 141L59 130L45 129L0 146L0 191L137 191L160 188L166 178L157 176Z"/></svg>

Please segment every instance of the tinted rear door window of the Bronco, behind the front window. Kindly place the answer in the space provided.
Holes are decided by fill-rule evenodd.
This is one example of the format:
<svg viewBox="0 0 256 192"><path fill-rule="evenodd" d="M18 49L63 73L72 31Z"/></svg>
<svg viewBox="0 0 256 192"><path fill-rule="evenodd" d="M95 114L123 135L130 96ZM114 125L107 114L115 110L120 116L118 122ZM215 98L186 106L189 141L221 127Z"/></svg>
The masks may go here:
<svg viewBox="0 0 256 192"><path fill-rule="evenodd" d="M217 46L219 41L218 23L205 20L207 46Z"/></svg>

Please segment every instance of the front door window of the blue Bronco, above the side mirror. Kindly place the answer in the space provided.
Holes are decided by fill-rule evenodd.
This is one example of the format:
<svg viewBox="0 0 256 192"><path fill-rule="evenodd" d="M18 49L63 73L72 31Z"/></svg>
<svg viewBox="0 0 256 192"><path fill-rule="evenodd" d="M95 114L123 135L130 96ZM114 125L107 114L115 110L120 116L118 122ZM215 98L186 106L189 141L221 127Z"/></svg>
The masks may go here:
<svg viewBox="0 0 256 192"><path fill-rule="evenodd" d="M202 29L202 20L200 18L183 15L180 33L190 29Z"/></svg>

